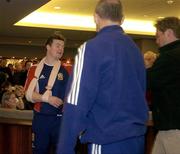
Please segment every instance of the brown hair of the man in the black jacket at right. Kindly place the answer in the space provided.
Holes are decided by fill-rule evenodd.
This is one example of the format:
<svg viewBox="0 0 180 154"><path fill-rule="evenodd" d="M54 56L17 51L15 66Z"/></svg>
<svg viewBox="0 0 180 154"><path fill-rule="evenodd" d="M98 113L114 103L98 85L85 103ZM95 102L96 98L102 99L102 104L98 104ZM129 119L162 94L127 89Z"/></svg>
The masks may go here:
<svg viewBox="0 0 180 154"><path fill-rule="evenodd" d="M166 17L157 20L155 27L161 32L165 32L167 29L172 29L174 35L177 38L180 38L180 19L178 17Z"/></svg>

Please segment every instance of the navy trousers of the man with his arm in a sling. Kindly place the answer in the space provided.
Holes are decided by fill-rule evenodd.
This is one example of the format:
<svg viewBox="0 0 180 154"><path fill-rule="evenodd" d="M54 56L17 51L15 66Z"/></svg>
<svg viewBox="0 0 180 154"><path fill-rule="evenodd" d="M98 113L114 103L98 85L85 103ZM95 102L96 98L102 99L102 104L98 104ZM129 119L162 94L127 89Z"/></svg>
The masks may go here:
<svg viewBox="0 0 180 154"><path fill-rule="evenodd" d="M59 139L61 116L35 115L32 129L34 141L33 154L49 154L50 149L56 149ZM53 150L55 151L55 150Z"/></svg>

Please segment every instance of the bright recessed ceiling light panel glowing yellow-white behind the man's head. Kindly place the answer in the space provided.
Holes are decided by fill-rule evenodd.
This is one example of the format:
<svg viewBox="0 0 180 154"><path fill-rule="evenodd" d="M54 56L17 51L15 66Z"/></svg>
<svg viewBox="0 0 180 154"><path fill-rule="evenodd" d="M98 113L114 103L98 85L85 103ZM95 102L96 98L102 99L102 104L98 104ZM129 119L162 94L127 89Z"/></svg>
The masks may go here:
<svg viewBox="0 0 180 154"><path fill-rule="evenodd" d="M35 11L25 18L21 19L16 26L59 28L70 30L88 30L95 31L96 26L93 16L46 13ZM153 21L125 19L122 27L127 33L155 35Z"/></svg>

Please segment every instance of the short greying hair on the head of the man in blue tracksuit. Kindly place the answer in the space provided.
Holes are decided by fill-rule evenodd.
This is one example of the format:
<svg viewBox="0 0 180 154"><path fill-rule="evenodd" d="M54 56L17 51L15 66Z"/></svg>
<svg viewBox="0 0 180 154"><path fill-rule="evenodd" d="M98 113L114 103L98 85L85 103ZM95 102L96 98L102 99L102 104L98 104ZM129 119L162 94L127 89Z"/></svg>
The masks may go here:
<svg viewBox="0 0 180 154"><path fill-rule="evenodd" d="M121 22L123 9L120 0L100 0L95 8L95 13L102 19Z"/></svg>

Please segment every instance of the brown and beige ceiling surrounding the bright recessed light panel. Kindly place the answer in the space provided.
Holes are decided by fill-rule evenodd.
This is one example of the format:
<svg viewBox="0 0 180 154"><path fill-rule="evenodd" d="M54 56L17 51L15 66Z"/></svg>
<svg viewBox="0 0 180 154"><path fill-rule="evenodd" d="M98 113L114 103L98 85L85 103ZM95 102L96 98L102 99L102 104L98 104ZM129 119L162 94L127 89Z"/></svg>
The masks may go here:
<svg viewBox="0 0 180 154"><path fill-rule="evenodd" d="M69 12L72 14L92 15L97 0L0 0L0 44L32 44L42 45L44 40L60 31L68 40L68 45L78 46L83 41L93 37L95 31L68 30L66 28L33 28L14 26L38 8L45 7L50 13ZM156 21L166 16L180 17L180 0L121 0L124 6L125 19ZM59 8L58 8L59 7ZM137 37L139 37L137 35Z"/></svg>

